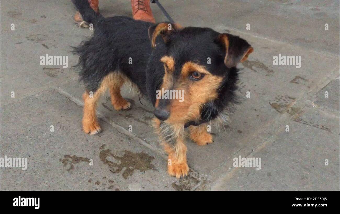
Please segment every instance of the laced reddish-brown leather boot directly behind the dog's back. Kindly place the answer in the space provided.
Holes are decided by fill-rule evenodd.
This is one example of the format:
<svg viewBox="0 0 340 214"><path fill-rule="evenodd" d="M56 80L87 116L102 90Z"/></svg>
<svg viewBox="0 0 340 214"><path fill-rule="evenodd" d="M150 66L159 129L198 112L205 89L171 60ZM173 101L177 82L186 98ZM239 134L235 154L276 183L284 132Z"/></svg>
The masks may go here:
<svg viewBox="0 0 340 214"><path fill-rule="evenodd" d="M131 0L131 7L133 19L156 23L150 8L150 0Z"/></svg>

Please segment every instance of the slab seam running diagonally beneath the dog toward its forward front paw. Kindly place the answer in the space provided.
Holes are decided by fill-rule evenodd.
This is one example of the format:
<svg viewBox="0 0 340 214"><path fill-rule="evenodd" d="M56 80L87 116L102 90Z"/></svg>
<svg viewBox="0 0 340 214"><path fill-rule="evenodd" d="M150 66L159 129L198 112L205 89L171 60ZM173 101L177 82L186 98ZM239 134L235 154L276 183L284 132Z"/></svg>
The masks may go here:
<svg viewBox="0 0 340 214"><path fill-rule="evenodd" d="M67 97L69 100L71 100L72 102L74 102L75 104L83 107L84 103L79 100L78 98L72 96L71 94L67 93L66 91L64 91L61 87L51 87L52 89L54 89L57 93ZM151 151L153 151L154 153L158 154L160 157L162 157L164 160L168 160L168 156L165 154L165 152L163 152L162 150L153 147L152 145L150 145L149 143L147 143L146 141L144 141L143 139L141 139L140 137L138 137L137 135L129 132L128 130L126 130L125 128L123 128L122 126L120 126L119 124L115 123L114 121L110 120L109 118L105 117L104 114L100 111L97 110L97 114L99 116L100 119L102 119L103 121L107 122L108 124L110 124L113 128L115 128L118 132L132 138L133 140L136 140L138 143L140 143L141 145L147 147L148 149L150 149ZM203 181L206 180L203 176L201 176L198 172L195 172L192 168L190 168L190 174L189 177L192 177L194 179L197 179L199 181L199 183L194 186L193 188L191 188L190 191L194 191L195 189L197 189L199 186L202 185Z"/></svg>

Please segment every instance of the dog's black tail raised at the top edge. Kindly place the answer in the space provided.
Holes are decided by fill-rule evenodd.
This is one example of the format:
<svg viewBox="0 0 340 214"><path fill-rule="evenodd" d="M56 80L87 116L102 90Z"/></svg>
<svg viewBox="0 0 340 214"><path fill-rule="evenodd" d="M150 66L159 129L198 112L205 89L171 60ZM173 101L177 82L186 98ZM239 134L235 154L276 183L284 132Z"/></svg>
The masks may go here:
<svg viewBox="0 0 340 214"><path fill-rule="evenodd" d="M79 10L80 15L85 22L92 23L94 26L98 24L99 21L104 20L104 17L98 12L95 12L88 0L72 0L73 4Z"/></svg>

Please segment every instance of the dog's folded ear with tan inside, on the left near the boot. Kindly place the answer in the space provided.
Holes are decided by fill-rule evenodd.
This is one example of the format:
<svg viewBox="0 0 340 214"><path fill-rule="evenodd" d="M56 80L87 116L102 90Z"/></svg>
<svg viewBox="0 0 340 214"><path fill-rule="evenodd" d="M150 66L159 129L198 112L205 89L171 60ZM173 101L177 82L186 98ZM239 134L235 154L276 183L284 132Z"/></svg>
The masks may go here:
<svg viewBox="0 0 340 214"><path fill-rule="evenodd" d="M170 34L176 33L183 27L179 24L170 22L161 22L149 27L149 38L151 41L151 46L154 48L156 46L156 38L161 35L164 42L167 42L167 38Z"/></svg>

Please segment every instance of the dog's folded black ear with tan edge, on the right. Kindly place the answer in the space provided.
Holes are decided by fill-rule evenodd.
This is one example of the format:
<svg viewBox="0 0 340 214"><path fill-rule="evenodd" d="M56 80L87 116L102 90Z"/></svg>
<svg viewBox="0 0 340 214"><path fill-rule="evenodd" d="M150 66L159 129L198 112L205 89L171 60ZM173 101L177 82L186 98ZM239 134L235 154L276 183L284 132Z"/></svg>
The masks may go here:
<svg viewBox="0 0 340 214"><path fill-rule="evenodd" d="M235 67L239 62L244 62L254 48L244 39L231 34L220 34L216 42L224 46L224 64L228 67Z"/></svg>

